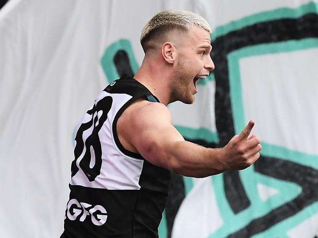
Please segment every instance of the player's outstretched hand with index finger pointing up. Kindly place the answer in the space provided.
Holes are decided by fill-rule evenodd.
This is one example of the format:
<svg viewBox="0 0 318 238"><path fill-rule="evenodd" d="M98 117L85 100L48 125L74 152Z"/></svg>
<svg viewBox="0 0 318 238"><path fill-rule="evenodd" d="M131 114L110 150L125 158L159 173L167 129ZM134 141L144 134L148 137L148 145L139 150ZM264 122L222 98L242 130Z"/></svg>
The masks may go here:
<svg viewBox="0 0 318 238"><path fill-rule="evenodd" d="M260 139L256 135L250 138L250 132L255 122L250 121L239 135L235 135L222 148L221 162L226 170L245 169L259 158L259 151L262 149Z"/></svg>

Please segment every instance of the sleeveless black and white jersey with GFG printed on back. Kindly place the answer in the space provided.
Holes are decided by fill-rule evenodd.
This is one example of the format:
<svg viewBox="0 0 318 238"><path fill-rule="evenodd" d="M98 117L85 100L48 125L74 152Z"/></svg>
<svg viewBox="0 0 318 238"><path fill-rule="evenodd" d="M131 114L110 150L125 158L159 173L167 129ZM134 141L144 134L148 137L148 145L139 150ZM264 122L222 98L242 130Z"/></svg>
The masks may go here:
<svg viewBox="0 0 318 238"><path fill-rule="evenodd" d="M116 133L120 115L140 98L158 101L125 75L98 95L82 119L61 238L158 237L170 171L126 150Z"/></svg>

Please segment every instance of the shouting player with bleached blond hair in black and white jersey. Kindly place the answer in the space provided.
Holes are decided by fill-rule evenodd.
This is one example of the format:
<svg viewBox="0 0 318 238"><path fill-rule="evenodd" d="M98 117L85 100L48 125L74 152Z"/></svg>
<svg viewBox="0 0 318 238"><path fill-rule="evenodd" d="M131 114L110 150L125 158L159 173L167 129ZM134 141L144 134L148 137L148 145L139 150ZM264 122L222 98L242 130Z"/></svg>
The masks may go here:
<svg viewBox="0 0 318 238"><path fill-rule="evenodd" d="M171 124L167 104L193 103L198 80L214 69L210 32L186 11L146 24L140 69L108 85L77 131L62 238L156 238L171 172L206 177L259 158L253 121L218 149L185 141Z"/></svg>

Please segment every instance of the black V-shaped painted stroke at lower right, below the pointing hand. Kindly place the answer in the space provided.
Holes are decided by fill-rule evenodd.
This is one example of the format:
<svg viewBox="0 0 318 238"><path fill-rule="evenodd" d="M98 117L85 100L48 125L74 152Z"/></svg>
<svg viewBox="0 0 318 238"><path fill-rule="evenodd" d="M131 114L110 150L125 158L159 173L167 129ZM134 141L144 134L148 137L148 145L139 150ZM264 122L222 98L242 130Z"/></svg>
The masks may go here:
<svg viewBox="0 0 318 238"><path fill-rule="evenodd" d="M251 237L267 230L276 223L295 215L318 201L318 170L288 160L262 156L254 165L255 171L275 179L294 182L302 191L293 200L273 209L266 216L252 220L246 227L228 238Z"/></svg>

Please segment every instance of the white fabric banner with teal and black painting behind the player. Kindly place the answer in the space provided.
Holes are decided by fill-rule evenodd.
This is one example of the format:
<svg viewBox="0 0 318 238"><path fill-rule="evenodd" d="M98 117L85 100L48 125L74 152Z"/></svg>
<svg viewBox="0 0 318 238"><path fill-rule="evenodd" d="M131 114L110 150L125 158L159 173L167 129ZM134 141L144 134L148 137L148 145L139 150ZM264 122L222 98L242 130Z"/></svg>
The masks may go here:
<svg viewBox="0 0 318 238"><path fill-rule="evenodd" d="M182 135L221 147L256 121L261 158L214 177L174 176L161 238L318 234L318 2L9 0L0 10L0 237L63 230L74 129L143 53L164 9L210 23L215 71L196 102L169 106Z"/></svg>

